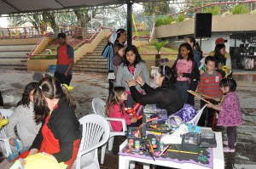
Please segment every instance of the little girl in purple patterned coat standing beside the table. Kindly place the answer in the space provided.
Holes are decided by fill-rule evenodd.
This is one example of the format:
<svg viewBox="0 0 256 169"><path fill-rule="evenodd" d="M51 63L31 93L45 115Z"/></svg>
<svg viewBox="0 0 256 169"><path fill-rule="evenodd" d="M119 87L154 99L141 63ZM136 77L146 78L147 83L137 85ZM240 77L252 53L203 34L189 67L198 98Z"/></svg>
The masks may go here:
<svg viewBox="0 0 256 169"><path fill-rule="evenodd" d="M230 77L220 81L220 90L224 93L224 100L221 104L207 104L214 110L219 111L218 126L227 127L228 142L224 142L224 152L235 152L236 146L236 126L241 125L242 117L240 103L236 94L236 81Z"/></svg>

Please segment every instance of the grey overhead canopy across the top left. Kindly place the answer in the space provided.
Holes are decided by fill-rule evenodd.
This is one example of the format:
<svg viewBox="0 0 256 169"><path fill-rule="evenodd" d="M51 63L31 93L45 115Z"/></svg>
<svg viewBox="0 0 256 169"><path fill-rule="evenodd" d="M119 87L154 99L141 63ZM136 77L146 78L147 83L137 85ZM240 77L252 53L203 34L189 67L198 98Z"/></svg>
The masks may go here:
<svg viewBox="0 0 256 169"><path fill-rule="evenodd" d="M26 13L45 9L94 7L160 0L0 0L0 14Z"/></svg>

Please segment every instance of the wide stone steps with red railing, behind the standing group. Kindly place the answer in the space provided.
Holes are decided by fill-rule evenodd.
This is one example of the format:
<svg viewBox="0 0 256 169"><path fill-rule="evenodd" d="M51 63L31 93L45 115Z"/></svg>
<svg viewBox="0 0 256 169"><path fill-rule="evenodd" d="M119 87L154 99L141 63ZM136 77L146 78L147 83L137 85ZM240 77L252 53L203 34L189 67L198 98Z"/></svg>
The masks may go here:
<svg viewBox="0 0 256 169"><path fill-rule="evenodd" d="M102 57L102 50L107 42L108 38L102 39L102 42L92 53L85 54L83 58L73 65L73 70L76 72L108 73L108 59Z"/></svg>

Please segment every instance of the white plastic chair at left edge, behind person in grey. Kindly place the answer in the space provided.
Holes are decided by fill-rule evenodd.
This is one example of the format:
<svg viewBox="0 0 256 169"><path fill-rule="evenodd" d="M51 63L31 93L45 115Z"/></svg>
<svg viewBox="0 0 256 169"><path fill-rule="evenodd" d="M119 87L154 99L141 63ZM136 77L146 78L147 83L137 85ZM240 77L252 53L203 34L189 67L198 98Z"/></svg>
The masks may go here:
<svg viewBox="0 0 256 169"><path fill-rule="evenodd" d="M9 116L13 114L12 110L0 109L3 119L9 119ZM12 153L9 138L7 138L6 126L0 129L0 147L3 150L3 154L8 157Z"/></svg>

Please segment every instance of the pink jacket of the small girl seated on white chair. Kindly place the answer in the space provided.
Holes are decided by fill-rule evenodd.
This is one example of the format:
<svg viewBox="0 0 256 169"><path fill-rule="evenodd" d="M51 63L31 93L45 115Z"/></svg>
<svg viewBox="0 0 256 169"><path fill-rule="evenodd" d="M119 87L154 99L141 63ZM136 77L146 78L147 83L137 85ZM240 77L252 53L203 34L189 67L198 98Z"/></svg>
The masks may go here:
<svg viewBox="0 0 256 169"><path fill-rule="evenodd" d="M124 104L123 112L124 112L124 115L120 111L119 104L112 104L109 108L109 117L125 119L126 125L131 125L131 120L130 120L131 117L125 112L125 104ZM122 122L120 121L110 121L110 124L113 128L113 132L121 132L123 129Z"/></svg>

